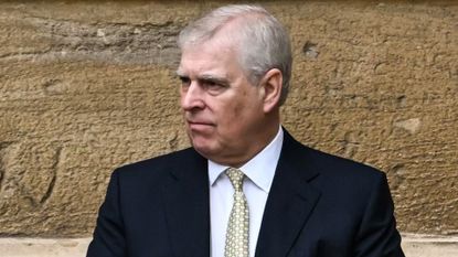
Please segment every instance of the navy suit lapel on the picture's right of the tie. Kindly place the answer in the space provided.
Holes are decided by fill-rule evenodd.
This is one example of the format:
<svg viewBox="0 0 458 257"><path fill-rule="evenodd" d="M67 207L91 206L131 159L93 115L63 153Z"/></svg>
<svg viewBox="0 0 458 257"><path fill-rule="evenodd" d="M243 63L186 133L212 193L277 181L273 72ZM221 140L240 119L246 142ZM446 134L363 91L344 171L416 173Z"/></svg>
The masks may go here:
<svg viewBox="0 0 458 257"><path fill-rule="evenodd" d="M285 132L284 146L264 211L256 257L287 256L307 223L320 192L309 185L318 175L303 146Z"/></svg>

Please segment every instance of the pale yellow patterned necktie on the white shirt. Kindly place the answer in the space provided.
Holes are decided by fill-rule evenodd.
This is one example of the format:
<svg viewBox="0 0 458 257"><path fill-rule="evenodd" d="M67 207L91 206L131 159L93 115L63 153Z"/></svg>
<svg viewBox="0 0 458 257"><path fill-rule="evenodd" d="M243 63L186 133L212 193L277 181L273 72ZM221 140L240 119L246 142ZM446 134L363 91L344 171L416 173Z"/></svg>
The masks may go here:
<svg viewBox="0 0 458 257"><path fill-rule="evenodd" d="M228 168L226 174L234 186L234 205L227 224L224 257L248 257L248 204L243 193L245 175L234 168Z"/></svg>

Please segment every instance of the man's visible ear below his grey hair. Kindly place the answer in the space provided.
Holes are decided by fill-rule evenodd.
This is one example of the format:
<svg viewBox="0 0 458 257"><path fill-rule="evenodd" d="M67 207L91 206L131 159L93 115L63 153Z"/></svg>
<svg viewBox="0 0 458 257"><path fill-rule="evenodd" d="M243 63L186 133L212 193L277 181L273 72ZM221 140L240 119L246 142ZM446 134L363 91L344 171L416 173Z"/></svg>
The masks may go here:
<svg viewBox="0 0 458 257"><path fill-rule="evenodd" d="M270 113L279 106L283 74L278 68L269 69L260 81L264 89L264 113Z"/></svg>

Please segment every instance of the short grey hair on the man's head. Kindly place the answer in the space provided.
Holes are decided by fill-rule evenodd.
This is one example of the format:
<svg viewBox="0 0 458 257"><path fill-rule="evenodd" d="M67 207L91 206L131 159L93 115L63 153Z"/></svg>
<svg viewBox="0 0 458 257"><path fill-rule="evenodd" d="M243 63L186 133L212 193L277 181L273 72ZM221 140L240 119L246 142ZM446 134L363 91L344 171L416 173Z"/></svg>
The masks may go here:
<svg viewBox="0 0 458 257"><path fill-rule="evenodd" d="M181 50L190 44L211 40L225 24L238 20L245 24L237 28L238 61L249 82L257 85L271 68L283 74L283 105L288 95L291 77L291 46L289 35L275 17L259 6L231 4L213 10L184 28L178 38Z"/></svg>

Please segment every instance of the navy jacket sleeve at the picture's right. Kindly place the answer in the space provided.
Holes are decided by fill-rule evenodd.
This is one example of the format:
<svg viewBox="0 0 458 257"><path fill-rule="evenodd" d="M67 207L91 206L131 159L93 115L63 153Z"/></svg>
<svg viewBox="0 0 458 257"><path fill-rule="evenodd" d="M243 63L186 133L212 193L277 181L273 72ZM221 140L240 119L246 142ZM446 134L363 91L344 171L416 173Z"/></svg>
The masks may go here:
<svg viewBox="0 0 458 257"><path fill-rule="evenodd" d="M354 245L355 257L404 257L384 174L372 186Z"/></svg>

